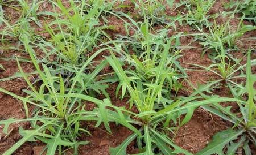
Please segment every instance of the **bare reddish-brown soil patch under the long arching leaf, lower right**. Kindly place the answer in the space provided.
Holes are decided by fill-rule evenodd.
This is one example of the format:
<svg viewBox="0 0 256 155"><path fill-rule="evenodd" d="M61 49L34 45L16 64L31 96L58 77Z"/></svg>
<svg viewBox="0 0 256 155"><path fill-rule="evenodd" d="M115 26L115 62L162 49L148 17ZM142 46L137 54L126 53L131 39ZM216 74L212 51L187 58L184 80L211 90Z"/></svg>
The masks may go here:
<svg viewBox="0 0 256 155"><path fill-rule="evenodd" d="M197 109L192 119L179 128L174 142L191 153L197 153L206 147L214 134L230 125L204 109Z"/></svg>

